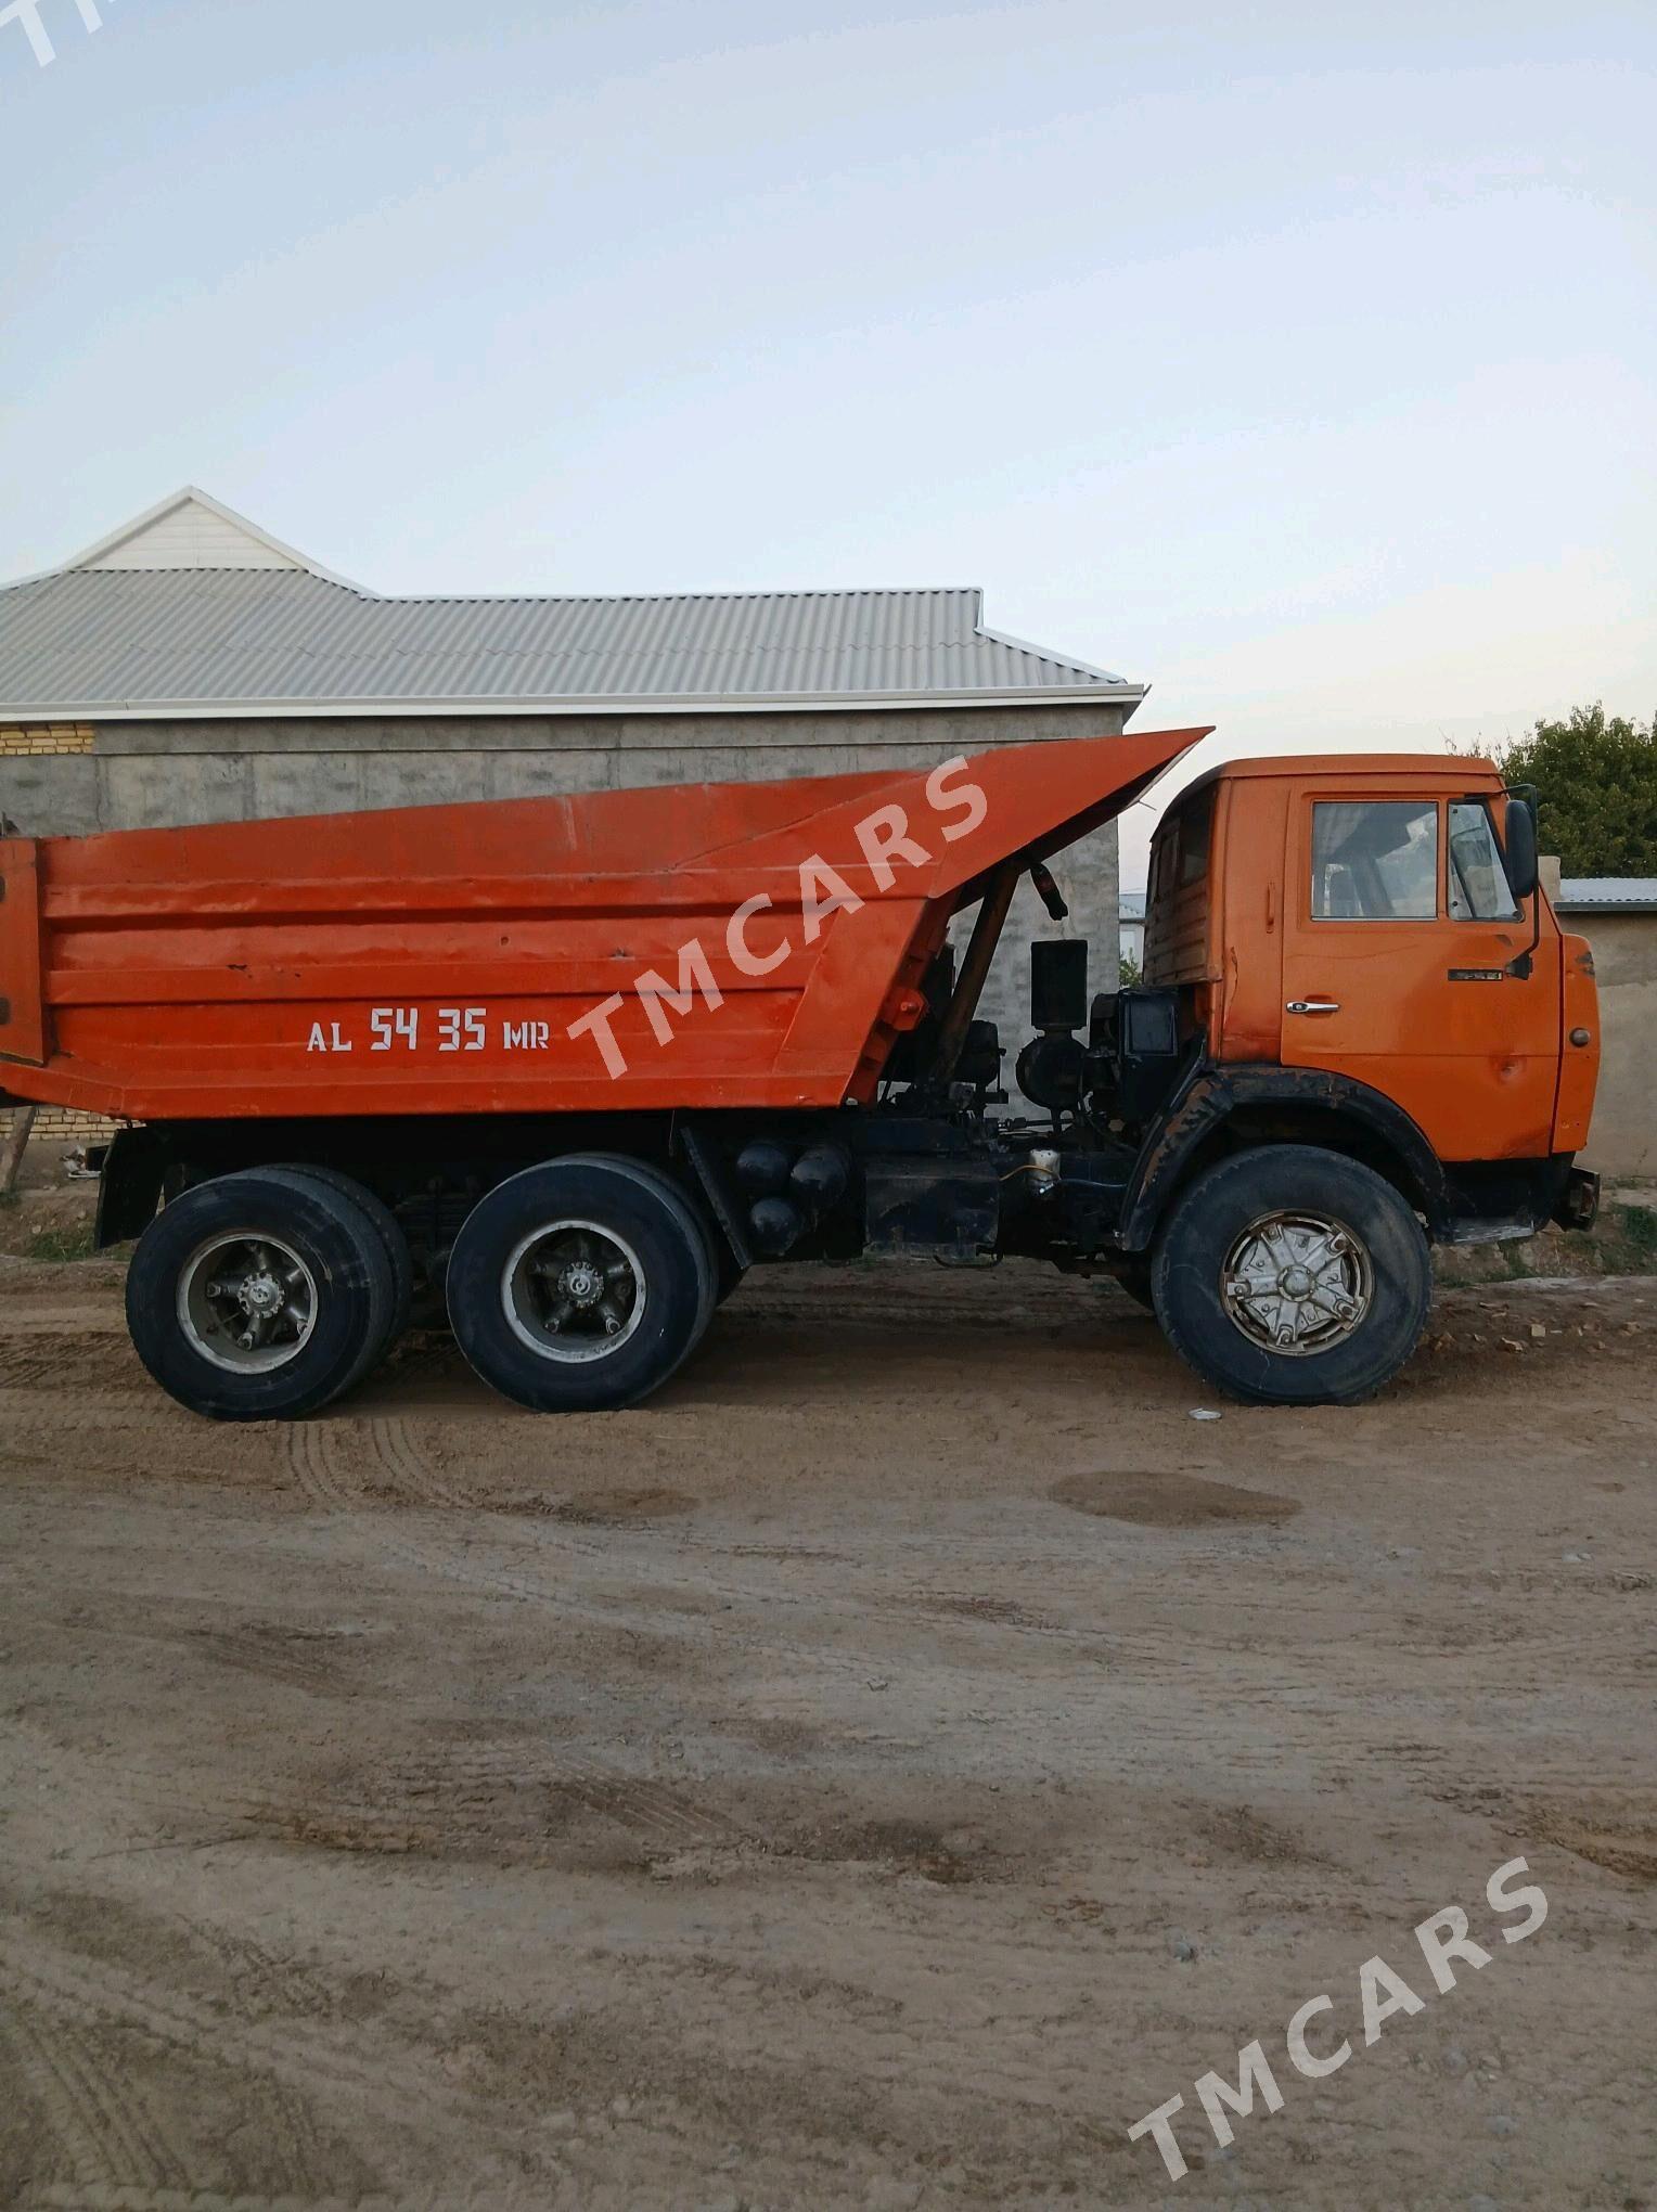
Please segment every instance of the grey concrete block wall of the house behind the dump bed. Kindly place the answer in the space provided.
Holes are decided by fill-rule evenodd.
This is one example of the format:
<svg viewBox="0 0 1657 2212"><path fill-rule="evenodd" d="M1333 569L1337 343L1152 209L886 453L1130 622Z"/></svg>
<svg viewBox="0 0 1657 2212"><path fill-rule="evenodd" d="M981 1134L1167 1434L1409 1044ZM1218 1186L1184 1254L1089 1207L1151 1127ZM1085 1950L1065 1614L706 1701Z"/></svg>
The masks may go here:
<svg viewBox="0 0 1657 2212"><path fill-rule="evenodd" d="M288 717L55 726L55 750L0 748L0 814L27 836L84 836L208 821L440 805L650 783L739 783L934 768L953 754L1066 737L1117 737L1117 706L874 708L761 714ZM1022 885L982 1013L1009 1048L1029 1031L1031 938L1086 936L1093 987L1115 984L1117 836L1102 830L1053 874L1055 925Z"/></svg>

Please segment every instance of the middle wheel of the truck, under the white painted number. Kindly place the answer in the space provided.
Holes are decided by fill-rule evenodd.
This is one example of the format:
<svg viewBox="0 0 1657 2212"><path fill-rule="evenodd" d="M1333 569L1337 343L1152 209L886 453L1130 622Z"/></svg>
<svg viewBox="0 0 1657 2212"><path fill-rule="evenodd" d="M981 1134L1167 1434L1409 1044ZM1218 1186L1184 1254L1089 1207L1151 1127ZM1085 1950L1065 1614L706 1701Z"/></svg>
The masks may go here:
<svg viewBox="0 0 1657 2212"><path fill-rule="evenodd" d="M657 1168L571 1155L498 1183L449 1254L449 1321L473 1369L538 1413L659 1389L715 1301L708 1237Z"/></svg>

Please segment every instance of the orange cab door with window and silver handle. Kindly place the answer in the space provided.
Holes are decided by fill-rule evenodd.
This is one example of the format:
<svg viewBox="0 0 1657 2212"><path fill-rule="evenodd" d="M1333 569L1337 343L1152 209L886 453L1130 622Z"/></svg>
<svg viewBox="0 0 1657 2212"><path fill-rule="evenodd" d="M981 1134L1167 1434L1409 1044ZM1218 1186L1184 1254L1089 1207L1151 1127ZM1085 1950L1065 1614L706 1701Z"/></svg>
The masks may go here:
<svg viewBox="0 0 1657 2212"><path fill-rule="evenodd" d="M1369 1084L1440 1159L1551 1150L1560 940L1502 869L1498 799L1403 779L1296 794L1288 818L1285 1066ZM1538 894L1540 896L1540 894Z"/></svg>

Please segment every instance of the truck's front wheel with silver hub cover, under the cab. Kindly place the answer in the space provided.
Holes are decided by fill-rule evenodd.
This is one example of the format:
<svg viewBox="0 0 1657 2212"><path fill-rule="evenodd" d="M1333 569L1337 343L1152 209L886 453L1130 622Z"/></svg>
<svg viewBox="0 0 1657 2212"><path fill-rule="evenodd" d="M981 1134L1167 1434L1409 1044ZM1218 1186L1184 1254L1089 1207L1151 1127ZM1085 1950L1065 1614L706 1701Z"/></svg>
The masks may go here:
<svg viewBox="0 0 1657 2212"><path fill-rule="evenodd" d="M1420 1343L1431 1281L1409 1203L1310 1144L1263 1144L1199 1175L1150 1270L1175 1352L1254 1405L1374 1396Z"/></svg>

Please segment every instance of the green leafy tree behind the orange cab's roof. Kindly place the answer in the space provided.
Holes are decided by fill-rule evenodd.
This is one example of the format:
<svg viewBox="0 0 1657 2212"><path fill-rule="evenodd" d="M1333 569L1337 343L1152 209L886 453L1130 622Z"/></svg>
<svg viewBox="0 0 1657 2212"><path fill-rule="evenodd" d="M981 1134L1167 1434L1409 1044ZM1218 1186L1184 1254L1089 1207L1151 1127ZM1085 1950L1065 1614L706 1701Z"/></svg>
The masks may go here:
<svg viewBox="0 0 1657 2212"><path fill-rule="evenodd" d="M1657 717L1573 706L1502 750L1509 783L1535 783L1542 852L1564 876L1657 876Z"/></svg>

